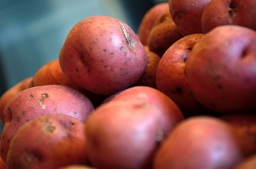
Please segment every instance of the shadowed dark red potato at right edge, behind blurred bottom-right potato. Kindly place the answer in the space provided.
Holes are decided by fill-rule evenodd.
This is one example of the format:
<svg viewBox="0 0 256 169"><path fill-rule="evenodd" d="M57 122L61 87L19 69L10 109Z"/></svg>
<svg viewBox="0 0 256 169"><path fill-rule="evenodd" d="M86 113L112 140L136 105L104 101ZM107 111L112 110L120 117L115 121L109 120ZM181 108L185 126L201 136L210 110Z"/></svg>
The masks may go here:
<svg viewBox="0 0 256 169"><path fill-rule="evenodd" d="M239 114L220 117L231 125L245 157L256 153L256 115Z"/></svg>

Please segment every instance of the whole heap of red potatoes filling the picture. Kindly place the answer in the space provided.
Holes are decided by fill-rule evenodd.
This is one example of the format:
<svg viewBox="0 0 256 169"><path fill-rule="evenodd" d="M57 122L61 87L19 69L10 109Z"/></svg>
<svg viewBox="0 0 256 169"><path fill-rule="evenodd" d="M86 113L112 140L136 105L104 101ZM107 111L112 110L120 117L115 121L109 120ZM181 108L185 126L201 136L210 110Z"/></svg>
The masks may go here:
<svg viewBox="0 0 256 169"><path fill-rule="evenodd" d="M255 168L255 14L253 0L169 0L138 33L77 22L1 96L0 169Z"/></svg>

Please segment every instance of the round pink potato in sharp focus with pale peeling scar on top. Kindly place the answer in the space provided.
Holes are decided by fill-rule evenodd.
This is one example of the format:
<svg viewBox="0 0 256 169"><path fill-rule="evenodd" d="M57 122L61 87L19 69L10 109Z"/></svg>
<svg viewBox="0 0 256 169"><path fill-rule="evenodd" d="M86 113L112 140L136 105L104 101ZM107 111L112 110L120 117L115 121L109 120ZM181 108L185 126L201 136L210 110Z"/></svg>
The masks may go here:
<svg viewBox="0 0 256 169"><path fill-rule="evenodd" d="M108 16L91 16L73 26L61 48L59 63L77 86L109 95L141 78L147 54L126 23Z"/></svg>

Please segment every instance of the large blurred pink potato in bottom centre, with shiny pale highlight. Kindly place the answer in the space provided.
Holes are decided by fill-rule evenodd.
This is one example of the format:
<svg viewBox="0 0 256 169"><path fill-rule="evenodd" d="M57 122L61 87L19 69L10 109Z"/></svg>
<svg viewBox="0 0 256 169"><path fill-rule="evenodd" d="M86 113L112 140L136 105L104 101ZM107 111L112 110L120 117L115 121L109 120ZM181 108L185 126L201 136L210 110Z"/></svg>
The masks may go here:
<svg viewBox="0 0 256 169"><path fill-rule="evenodd" d="M159 144L182 119L174 102L154 88L119 92L87 119L89 162L98 169L150 168Z"/></svg>

